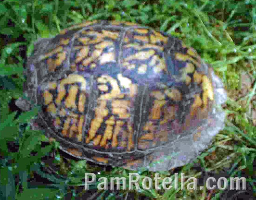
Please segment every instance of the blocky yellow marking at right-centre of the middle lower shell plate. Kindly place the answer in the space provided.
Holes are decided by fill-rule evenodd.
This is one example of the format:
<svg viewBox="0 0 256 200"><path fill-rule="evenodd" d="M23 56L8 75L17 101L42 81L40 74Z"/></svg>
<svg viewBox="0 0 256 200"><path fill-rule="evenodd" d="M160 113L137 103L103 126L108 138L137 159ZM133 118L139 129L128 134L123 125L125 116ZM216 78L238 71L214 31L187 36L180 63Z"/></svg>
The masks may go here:
<svg viewBox="0 0 256 200"><path fill-rule="evenodd" d="M118 115L120 119L127 119L130 117L130 113L127 110L130 107L130 101L128 100L113 100L112 101L112 113Z"/></svg>

